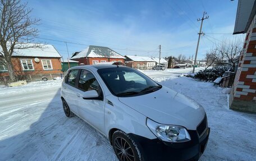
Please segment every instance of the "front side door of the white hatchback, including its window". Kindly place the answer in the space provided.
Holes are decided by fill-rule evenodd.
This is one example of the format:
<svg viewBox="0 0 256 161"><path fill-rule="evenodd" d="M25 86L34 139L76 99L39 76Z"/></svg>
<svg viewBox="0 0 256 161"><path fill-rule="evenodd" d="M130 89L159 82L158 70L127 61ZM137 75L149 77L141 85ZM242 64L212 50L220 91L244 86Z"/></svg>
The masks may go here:
<svg viewBox="0 0 256 161"><path fill-rule="evenodd" d="M81 70L77 88L79 89L76 94L79 116L99 131L104 132L103 92L93 73ZM96 90L99 98L84 99L84 92L89 90Z"/></svg>

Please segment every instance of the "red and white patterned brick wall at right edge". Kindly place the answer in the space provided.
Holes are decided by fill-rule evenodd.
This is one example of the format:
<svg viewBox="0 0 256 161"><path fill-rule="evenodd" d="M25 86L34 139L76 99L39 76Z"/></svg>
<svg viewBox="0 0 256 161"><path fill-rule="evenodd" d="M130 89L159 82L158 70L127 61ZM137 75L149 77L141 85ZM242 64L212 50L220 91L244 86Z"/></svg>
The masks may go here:
<svg viewBox="0 0 256 161"><path fill-rule="evenodd" d="M255 16L246 33L243 52L240 56L230 108L256 113L256 24Z"/></svg>

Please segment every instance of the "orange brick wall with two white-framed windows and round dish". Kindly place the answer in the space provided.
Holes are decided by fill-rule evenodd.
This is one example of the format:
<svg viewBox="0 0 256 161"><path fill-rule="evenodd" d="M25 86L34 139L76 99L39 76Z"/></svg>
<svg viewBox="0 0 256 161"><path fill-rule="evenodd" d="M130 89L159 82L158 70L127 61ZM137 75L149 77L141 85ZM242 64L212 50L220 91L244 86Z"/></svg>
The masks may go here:
<svg viewBox="0 0 256 161"><path fill-rule="evenodd" d="M21 66L21 59L31 59L33 62L34 70L24 71ZM47 73L61 73L61 59L60 58L39 58L38 63L35 62L34 57L12 57L11 61L16 75L37 75ZM44 70L41 59L51 59L52 70ZM0 77L9 76L8 72L0 72Z"/></svg>

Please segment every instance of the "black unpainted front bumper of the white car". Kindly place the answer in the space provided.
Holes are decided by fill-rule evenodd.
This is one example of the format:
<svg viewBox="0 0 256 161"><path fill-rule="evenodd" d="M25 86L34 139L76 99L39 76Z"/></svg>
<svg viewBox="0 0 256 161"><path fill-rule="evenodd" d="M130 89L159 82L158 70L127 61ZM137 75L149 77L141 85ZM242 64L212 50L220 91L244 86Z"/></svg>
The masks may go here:
<svg viewBox="0 0 256 161"><path fill-rule="evenodd" d="M142 136L130 134L140 146L143 160L198 160L203 154L210 128L199 138L198 133L194 130L188 130L191 140L188 142L165 142L159 139L147 139Z"/></svg>

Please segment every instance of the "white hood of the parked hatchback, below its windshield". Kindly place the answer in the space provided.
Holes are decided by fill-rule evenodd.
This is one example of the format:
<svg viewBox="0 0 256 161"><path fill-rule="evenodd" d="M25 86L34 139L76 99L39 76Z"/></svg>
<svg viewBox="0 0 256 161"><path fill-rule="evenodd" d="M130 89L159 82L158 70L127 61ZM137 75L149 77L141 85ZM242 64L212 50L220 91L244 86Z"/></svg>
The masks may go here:
<svg viewBox="0 0 256 161"><path fill-rule="evenodd" d="M205 116L203 107L193 99L164 86L153 93L118 99L158 123L184 126L188 130L196 130Z"/></svg>

